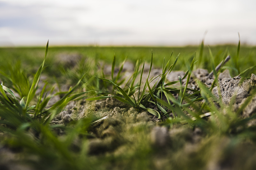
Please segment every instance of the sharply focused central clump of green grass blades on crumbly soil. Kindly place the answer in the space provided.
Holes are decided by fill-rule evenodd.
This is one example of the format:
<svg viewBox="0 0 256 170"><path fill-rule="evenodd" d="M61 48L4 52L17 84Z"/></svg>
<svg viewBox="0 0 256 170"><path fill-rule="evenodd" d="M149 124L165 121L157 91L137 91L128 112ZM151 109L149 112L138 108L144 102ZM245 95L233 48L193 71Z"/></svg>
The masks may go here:
<svg viewBox="0 0 256 170"><path fill-rule="evenodd" d="M191 71L193 70L193 67L194 67L195 57L193 58L190 68L188 69L188 71L186 72L185 76L182 79L180 78L179 81L168 82L165 84L166 76L173 70L174 66L177 63L179 55L176 57L176 59L172 65L169 64L171 57L172 57L172 54L166 64L164 64L164 61L163 61L162 74L158 75L156 77L153 77L149 80L150 72L151 72L152 65L153 65L153 52L151 52L150 68L149 68L148 77L146 79L144 86L142 86L142 76L143 76L145 63L143 63L142 69L139 71L139 61L137 61L135 64L134 73L132 74L132 77L129 79L131 81L129 83L129 80L128 80L128 82L126 83L126 87L124 87L124 89L123 89L116 83L118 81L120 72L122 71L124 62L121 65L121 68L119 69L117 77L114 78L114 70L115 70L115 56L114 56L113 63L112 63L112 72L111 72L111 78L113 80L110 80L107 78L99 78L99 77L97 77L97 78L114 85L114 87L118 90L116 92L117 95L115 95L115 96L99 96L99 97L89 98L86 100L101 100L101 99L106 99L106 98L115 98L125 104L128 104L128 105L136 108L136 110L138 112L140 112L141 110L146 110L149 113L151 113L152 115L157 116L159 119L163 118L163 116L169 117L170 112L168 113L162 107L162 104L159 103L159 101L161 101L164 98L164 96L166 97L167 92L169 92L171 95L172 95L172 93L180 94L179 98L178 98L180 106L184 99L192 98L196 94L198 94L198 92L194 93L193 95L188 95L188 93L187 93L187 90L191 90L191 89L188 89L187 86L188 86L188 82L190 79ZM136 80L137 76L139 75L138 74L139 72L140 72L139 82L135 84L135 80ZM183 80L186 77L187 77L186 85L185 85L185 87L182 87L181 80ZM157 78L156 83L153 85L153 87L150 87L149 83L152 82L153 80L155 80L156 78ZM121 82L124 82L124 80L121 80ZM180 82L180 87L178 87L178 88L177 87L174 87L174 88L168 87L169 85L173 85L178 82ZM128 84L130 84L130 85L128 85ZM143 87L143 90L141 92L140 89L142 89L142 87ZM146 92L147 87L148 87L149 92ZM138 98L135 98L134 93L137 89L138 89ZM162 89L164 89L164 90L162 90ZM173 97L173 95L172 95L172 97ZM170 104L169 98L167 98L167 100L168 100L168 103ZM191 100L189 103L192 103L192 101L194 101L194 100ZM149 108L148 107L149 103L154 104L156 106L157 110L155 110L153 108Z"/></svg>

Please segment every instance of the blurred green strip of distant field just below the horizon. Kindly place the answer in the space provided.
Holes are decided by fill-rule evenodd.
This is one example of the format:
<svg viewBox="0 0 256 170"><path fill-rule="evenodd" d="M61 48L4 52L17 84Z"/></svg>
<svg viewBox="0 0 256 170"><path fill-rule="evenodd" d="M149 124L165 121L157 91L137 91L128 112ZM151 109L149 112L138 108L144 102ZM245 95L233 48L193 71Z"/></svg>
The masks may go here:
<svg viewBox="0 0 256 170"><path fill-rule="evenodd" d="M201 46L185 46L185 47L95 47L95 46L77 46L77 47L49 47L49 53L46 57L46 69L50 75L58 74L56 68L56 61L61 60L61 56L68 55L72 59L72 56L80 56L82 58L90 58L92 60L103 61L107 64L111 64L114 55L116 56L116 63L119 64L127 57L127 61L135 64L136 60L141 59L150 63L151 50L154 56L154 67L162 67L164 57L168 59L173 51L173 62L176 56L180 53L179 60L174 70L186 70L193 56L196 53L197 63L196 68L204 68L208 71L212 70L210 64L209 48L214 56L215 66L226 57L231 56L231 60L226 64L229 68L231 76L236 76L237 71L231 68L236 68L237 57L237 45L217 45L217 46L204 46L202 58L200 58ZM1 70L8 70L8 64L15 64L20 62L26 70L32 71L40 66L44 57L44 47L19 47L19 48L0 48L0 67ZM245 70L253 65L256 65L255 61L256 47L255 46L241 46L238 64L240 70ZM75 58L74 58L75 60ZM92 61L90 60L90 61ZM23 67L23 68L24 68ZM56 70L57 69L57 70ZM255 69L252 73L255 73ZM86 71L85 71L86 72Z"/></svg>

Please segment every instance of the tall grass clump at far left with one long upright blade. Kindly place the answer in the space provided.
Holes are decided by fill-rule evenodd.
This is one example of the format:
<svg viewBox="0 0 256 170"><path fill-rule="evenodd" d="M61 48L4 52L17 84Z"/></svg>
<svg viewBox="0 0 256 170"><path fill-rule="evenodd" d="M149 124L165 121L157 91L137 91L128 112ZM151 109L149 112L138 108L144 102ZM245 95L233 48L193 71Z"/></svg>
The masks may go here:
<svg viewBox="0 0 256 170"><path fill-rule="evenodd" d="M29 82L29 78L25 77L22 72L19 72L19 74L23 76L12 78L5 74L3 71L1 71L1 74L12 82L15 92L20 95L18 97L15 97L12 90L6 87L3 82L1 83L0 117L2 118L2 124L6 124L8 126L11 126L12 128L19 128L20 126L23 126L24 123L28 123L26 125L33 125L33 121L39 121L41 123L48 124L52 120L52 118L68 104L69 101L74 100L85 93L88 93L87 91L74 94L75 90L83 79L82 77L73 88L70 87L68 92L64 92L63 97L60 100L58 100L52 106L48 106L48 108L46 108L49 100L54 95L58 95L47 94L47 92L45 91L47 84L43 86L42 91L39 94L36 94L36 90L39 88L39 79L44 67L44 61L47 55L47 51L48 42L46 45L43 63L37 70L31 84ZM20 82L20 84L17 84L17 82ZM23 91L23 88L20 88L20 85L22 85L22 83L26 84L26 86L28 87L28 89L24 90L25 92ZM53 89L51 90L51 92L52 91ZM7 94L5 92L7 92ZM37 101L35 99L37 99ZM30 105L30 103L32 102L35 103L35 105Z"/></svg>

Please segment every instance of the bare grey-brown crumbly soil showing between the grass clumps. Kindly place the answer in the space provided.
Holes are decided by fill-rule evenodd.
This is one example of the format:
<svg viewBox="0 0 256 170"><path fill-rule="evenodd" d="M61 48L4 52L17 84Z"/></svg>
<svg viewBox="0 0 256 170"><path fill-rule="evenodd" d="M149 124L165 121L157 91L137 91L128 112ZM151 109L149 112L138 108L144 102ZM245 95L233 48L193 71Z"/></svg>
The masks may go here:
<svg viewBox="0 0 256 170"><path fill-rule="evenodd" d="M77 58L79 58L79 56L77 56ZM69 57L66 57L65 61L70 62ZM72 67L74 64L75 63L72 63ZM109 67L111 66L105 67L106 74L109 74L109 71L111 70L111 68L109 70ZM143 81L147 78L148 70L149 65L147 64L144 69L145 74L143 76ZM127 62L124 65L124 71L126 72L124 75L131 75L133 71L132 64ZM150 78L156 77L161 73L162 69L152 69ZM179 80L178 76L183 77L184 75L185 72L183 71L172 71L167 76L167 81L177 81ZM199 88L196 84L196 80L200 80L207 87L211 87L214 77L209 76L207 70L196 69L193 71L190 78L188 88L198 90ZM151 85L155 84L156 81L157 79L151 82ZM185 85L186 79L182 80L182 83ZM251 96L251 89L256 85L256 76L252 74L250 79L241 81L241 77L236 76L232 78L229 71L224 70L218 77L218 83L219 87L215 86L213 88L213 94L217 98L221 96L222 101L227 105L233 105L233 109L236 111L244 102L246 102L246 99ZM220 95L218 89L220 89ZM256 97L253 97L252 101L242 111L241 114L243 117L249 117L255 113L255 101ZM52 120L52 124L67 125L69 122L84 117L91 117L95 120L90 129L91 137L88 139L88 154L91 156L109 153L118 156L124 154L124 152L127 152L127 154L129 152L135 152L130 151L129 147L132 144L136 145L135 142L138 142L133 134L136 130L140 135L145 135L145 140L150 143L151 147L157 148L157 150L163 154L164 150L168 148L169 145L172 145L172 147L176 147L177 145L177 148L180 148L182 145L183 149L181 152L183 152L183 155L193 154L200 148L199 144L201 144L201 139L204 137L204 133L199 128L189 129L186 126L169 128L160 126L161 120L157 119L156 116L145 111L138 113L135 108L127 106L114 98L94 102L85 100L80 100L78 102L72 101L66 106L65 110L60 112ZM144 129L143 133L139 129ZM176 141L177 137L179 138L179 141ZM216 149L212 155L220 154L221 148L224 148L225 144L228 143L228 139L225 137L221 140L223 145ZM215 142L213 139L212 141ZM240 152L237 154L239 153ZM3 161L12 162L17 159L17 155L15 156L13 152L5 149L0 150L0 155L6 154L9 155L9 158L7 160L0 160L0 165L3 165L0 166L0 169L26 168L23 166L16 167L15 165L5 167ZM166 153L166 155L168 154ZM2 156L0 157L2 158ZM178 154L177 157L182 158L182 155L179 156ZM156 158L153 164L153 169L168 169L168 159L163 156ZM233 166L227 166L227 163L223 164L223 162L220 162L220 158L215 156L212 157L210 163L207 164L206 169L232 169L232 167Z"/></svg>

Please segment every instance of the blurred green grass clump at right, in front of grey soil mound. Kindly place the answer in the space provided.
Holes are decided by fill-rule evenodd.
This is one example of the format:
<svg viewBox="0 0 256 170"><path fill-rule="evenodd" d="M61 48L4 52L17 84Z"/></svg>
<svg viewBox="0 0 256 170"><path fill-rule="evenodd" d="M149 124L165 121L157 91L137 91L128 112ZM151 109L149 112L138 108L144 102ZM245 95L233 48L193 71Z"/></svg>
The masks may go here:
<svg viewBox="0 0 256 170"><path fill-rule="evenodd" d="M164 106L170 108L175 112L178 116L178 120L168 118L168 121L170 124L176 124L176 123L187 123L191 127L199 127L202 131L204 131L208 135L228 135L228 136L237 136L242 137L243 140L244 137L249 137L251 140L255 140L255 124L248 127L249 122L252 122L255 120L256 116L252 115L250 117L243 117L242 112L245 109L245 107L248 105L250 101L252 101L252 98L256 95L256 89L255 87L252 88L250 92L250 96L247 97L247 99L244 101L244 103L234 111L234 108L232 107L236 95L234 95L230 101L229 106L224 104L222 102L222 96L220 93L220 85L218 82L218 74L220 73L220 70L216 71L214 67L214 57L212 55L212 51L209 48L209 53L211 57L211 63L212 63L212 72L214 75L214 81L211 87L206 87L204 83L200 82L200 80L196 80L196 83L200 90L198 92L195 92L195 94L200 93L199 98L194 98L191 100L189 105L183 104L181 105L180 99L181 97L178 97L178 100L174 97L169 95L169 99L174 103L173 105L170 105L170 103L163 102L159 100L159 102L162 102ZM223 60L224 61L224 60ZM250 69L250 68L249 68ZM244 72L248 71L248 69L244 70ZM241 78L244 80L243 78ZM180 79L181 82L181 79ZM181 83L180 83L181 85ZM212 93L212 88L214 86L217 86L218 94L219 96L215 96ZM179 93L181 95L181 92ZM168 94L166 95L168 96ZM202 101L204 100L203 104L200 106L195 105L193 102L195 101ZM175 105L176 104L176 105ZM178 106L178 107L177 107ZM192 111L187 106L191 106L194 108ZM184 114L184 111L186 111L188 114Z"/></svg>

